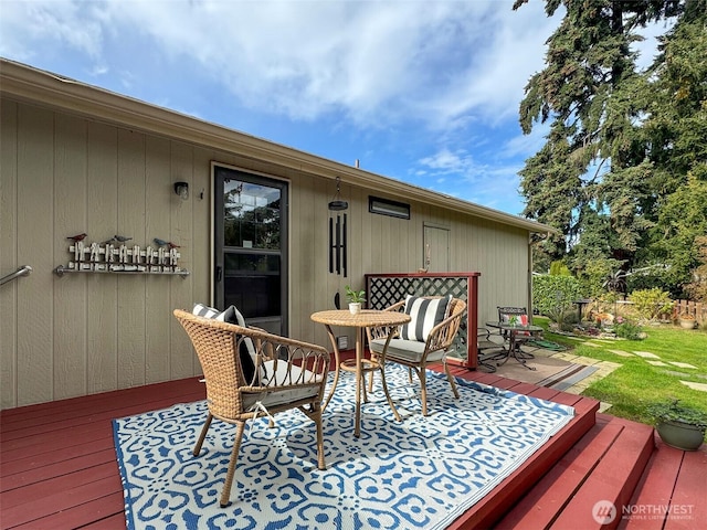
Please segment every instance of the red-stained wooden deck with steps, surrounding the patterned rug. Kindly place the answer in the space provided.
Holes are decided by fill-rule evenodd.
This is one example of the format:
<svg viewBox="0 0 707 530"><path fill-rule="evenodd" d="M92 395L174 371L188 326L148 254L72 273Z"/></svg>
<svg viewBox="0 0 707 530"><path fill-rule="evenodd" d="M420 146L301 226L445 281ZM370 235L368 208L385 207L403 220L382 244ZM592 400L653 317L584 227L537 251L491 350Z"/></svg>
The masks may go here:
<svg viewBox="0 0 707 530"><path fill-rule="evenodd" d="M695 453L663 446L646 425L597 414L594 400L462 368L455 372L572 405L577 417L452 529L673 530L707 520L705 446ZM1 528L125 528L112 418L203 395L203 384L187 379L2 411ZM593 520L599 500L618 507L611 524ZM623 518L624 505L631 518ZM648 519L646 511L661 509L673 515Z"/></svg>

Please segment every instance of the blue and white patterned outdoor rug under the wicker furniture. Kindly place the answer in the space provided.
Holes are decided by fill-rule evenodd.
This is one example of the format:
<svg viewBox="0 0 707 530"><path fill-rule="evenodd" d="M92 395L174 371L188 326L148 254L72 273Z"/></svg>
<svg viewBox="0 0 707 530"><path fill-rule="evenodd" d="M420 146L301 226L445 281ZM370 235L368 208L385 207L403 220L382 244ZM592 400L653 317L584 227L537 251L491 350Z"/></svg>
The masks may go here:
<svg viewBox="0 0 707 530"><path fill-rule="evenodd" d="M192 449L205 402L114 421L128 529L442 529L517 469L573 416L570 406L428 372L429 410L407 369L386 369L403 422L380 390L354 437L354 374L342 372L325 412L327 470L315 425L299 411L246 427L231 490L219 507L235 427L214 420ZM377 390L378 389L378 390Z"/></svg>

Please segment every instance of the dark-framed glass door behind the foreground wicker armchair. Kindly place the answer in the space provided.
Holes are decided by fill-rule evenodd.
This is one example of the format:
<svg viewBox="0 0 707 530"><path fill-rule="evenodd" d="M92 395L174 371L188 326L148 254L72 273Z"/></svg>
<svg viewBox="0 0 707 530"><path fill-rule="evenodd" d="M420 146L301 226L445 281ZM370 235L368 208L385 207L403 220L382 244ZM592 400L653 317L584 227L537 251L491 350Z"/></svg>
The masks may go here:
<svg viewBox="0 0 707 530"><path fill-rule="evenodd" d="M214 166L214 301L287 333L288 184Z"/></svg>

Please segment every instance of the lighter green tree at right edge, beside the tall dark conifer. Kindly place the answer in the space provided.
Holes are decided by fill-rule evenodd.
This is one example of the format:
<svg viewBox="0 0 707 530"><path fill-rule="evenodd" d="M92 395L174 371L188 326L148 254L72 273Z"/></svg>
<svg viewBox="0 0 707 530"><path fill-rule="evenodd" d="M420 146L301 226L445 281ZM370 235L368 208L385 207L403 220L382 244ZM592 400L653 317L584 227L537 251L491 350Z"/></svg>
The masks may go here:
<svg viewBox="0 0 707 530"><path fill-rule="evenodd" d="M669 290L682 298L699 265L697 237L707 233L707 0L687 2L661 50L643 129L669 193L643 254L667 266Z"/></svg>

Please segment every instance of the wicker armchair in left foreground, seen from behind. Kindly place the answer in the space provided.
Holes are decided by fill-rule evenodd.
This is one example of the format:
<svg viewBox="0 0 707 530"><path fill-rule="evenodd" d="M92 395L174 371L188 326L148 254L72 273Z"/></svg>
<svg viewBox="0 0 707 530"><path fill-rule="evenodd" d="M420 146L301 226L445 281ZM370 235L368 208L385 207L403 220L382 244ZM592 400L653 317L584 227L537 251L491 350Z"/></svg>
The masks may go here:
<svg viewBox="0 0 707 530"><path fill-rule="evenodd" d="M236 425L229 469L221 492L221 507L229 506L235 464L245 422L297 407L317 430L317 464L326 469L321 428L321 400L329 370L329 353L320 346L244 328L175 310L197 350L207 383L209 414L193 454L201 452L211 421L217 417ZM247 346L247 348L246 348ZM243 375L243 354L254 358L254 375ZM253 354L254 353L254 354Z"/></svg>

